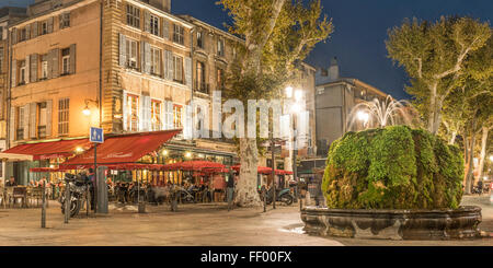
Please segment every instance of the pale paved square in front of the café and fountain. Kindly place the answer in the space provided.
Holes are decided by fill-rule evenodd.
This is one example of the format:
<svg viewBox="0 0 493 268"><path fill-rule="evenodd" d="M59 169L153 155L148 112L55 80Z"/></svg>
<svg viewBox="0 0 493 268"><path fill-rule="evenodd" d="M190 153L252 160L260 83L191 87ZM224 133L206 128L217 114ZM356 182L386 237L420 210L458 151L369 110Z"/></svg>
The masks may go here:
<svg viewBox="0 0 493 268"><path fill-rule="evenodd" d="M493 232L493 206L489 197L465 197L462 205L483 208L481 229ZM177 212L168 206L147 206L147 213L136 207L111 206L110 214L85 211L64 223L59 205L50 202L47 229L41 229L41 209L0 209L0 246L340 246L340 245L488 245L493 238L475 241L376 241L323 238L302 232L299 208L278 206L266 213L262 209L234 209L226 205L185 205Z"/></svg>

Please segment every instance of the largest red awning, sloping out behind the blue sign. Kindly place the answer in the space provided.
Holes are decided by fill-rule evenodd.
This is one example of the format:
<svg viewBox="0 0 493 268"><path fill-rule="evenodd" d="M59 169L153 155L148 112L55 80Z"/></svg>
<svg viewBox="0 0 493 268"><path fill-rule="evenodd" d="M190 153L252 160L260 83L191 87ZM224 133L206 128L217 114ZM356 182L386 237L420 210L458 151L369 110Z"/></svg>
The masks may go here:
<svg viewBox="0 0 493 268"><path fill-rule="evenodd" d="M146 154L158 150L182 130L165 130L145 133L115 136L98 145L98 165L135 163ZM83 166L94 164L94 148L60 166Z"/></svg>

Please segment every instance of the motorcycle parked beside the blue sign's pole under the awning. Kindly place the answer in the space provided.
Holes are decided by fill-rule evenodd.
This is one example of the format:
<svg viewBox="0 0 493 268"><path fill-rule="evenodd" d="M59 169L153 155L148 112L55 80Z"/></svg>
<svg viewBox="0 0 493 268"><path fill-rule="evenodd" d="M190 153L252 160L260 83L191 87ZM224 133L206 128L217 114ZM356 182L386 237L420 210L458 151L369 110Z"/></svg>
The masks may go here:
<svg viewBox="0 0 493 268"><path fill-rule="evenodd" d="M73 175L69 173L65 174L65 182L70 187L70 217L74 217L79 213L85 200L90 182L85 175ZM61 213L65 214L66 191L60 195L58 201L61 203Z"/></svg>

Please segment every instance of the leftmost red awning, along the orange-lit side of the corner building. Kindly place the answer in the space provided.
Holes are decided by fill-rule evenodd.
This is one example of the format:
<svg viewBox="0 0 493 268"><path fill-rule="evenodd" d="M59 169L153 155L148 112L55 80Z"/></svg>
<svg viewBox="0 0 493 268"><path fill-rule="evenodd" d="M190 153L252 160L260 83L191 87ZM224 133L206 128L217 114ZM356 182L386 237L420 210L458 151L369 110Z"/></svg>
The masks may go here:
<svg viewBox="0 0 493 268"><path fill-rule="evenodd" d="M89 142L89 139L77 139L28 143L16 145L3 153L26 154L33 155L33 160L47 160L71 156L76 154L77 148L89 150L91 148L91 142Z"/></svg>

